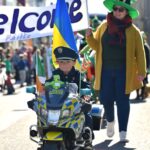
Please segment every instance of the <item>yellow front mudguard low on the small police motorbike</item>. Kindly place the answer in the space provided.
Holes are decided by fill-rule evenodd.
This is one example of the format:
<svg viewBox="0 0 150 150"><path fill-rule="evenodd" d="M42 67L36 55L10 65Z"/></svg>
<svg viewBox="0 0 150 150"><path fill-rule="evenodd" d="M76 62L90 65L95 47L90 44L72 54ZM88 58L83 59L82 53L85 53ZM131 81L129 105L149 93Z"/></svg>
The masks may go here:
<svg viewBox="0 0 150 150"><path fill-rule="evenodd" d="M63 133L60 131L49 131L43 139L47 141L63 141Z"/></svg>

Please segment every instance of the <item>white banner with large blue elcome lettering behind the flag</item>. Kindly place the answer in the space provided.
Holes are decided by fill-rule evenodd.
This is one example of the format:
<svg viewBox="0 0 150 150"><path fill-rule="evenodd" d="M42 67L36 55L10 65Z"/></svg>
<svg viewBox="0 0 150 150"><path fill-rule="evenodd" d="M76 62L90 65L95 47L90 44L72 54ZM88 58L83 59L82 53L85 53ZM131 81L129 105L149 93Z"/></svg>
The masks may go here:
<svg viewBox="0 0 150 150"><path fill-rule="evenodd" d="M66 3L73 31L88 28L86 0ZM0 43L51 36L55 7L0 6Z"/></svg>

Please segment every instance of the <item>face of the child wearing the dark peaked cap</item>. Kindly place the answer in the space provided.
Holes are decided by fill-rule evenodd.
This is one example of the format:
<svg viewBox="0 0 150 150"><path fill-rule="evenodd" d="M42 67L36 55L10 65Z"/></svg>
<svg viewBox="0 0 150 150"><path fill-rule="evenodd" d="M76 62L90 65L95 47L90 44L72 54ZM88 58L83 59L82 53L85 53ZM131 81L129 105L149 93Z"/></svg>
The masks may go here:
<svg viewBox="0 0 150 150"><path fill-rule="evenodd" d="M76 61L73 60L57 60L60 70L65 74L68 74L70 72L72 67L75 65L75 62Z"/></svg>

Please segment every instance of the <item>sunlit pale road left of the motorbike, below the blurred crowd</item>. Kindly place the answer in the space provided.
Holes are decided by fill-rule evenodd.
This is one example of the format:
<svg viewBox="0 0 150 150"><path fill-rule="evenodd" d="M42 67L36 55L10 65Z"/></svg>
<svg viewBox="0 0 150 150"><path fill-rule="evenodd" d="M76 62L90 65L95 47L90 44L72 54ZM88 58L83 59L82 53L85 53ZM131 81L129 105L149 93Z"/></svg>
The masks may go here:
<svg viewBox="0 0 150 150"><path fill-rule="evenodd" d="M32 97L24 88L15 95L0 95L0 150L36 150L29 139L29 126L36 122L36 115L26 105Z"/></svg>

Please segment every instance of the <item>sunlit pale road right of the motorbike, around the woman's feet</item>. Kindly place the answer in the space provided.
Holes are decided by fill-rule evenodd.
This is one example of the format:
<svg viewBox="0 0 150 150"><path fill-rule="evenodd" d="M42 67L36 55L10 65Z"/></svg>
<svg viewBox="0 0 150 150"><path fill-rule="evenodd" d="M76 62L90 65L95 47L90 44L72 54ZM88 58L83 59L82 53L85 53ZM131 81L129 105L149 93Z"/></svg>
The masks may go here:
<svg viewBox="0 0 150 150"><path fill-rule="evenodd" d="M131 98L135 97L133 92ZM117 119L117 118L116 118ZM145 101L131 100L131 111L128 126L129 143L119 143L118 124L115 136L108 138L105 127L95 132L96 150L150 150L150 98Z"/></svg>

